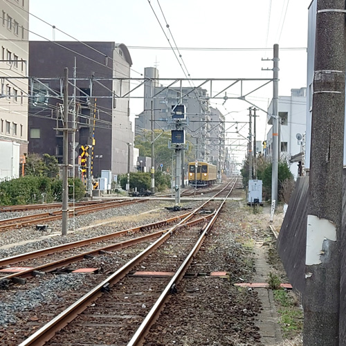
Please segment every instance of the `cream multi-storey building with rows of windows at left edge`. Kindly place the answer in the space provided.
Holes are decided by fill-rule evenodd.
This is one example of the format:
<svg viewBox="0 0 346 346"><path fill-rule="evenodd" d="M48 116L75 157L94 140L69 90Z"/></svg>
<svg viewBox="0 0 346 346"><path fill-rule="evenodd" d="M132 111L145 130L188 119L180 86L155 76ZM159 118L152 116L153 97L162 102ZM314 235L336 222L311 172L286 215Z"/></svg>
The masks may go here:
<svg viewBox="0 0 346 346"><path fill-rule="evenodd" d="M0 1L0 181L19 176L28 152L29 0ZM6 154L4 154L6 153Z"/></svg>

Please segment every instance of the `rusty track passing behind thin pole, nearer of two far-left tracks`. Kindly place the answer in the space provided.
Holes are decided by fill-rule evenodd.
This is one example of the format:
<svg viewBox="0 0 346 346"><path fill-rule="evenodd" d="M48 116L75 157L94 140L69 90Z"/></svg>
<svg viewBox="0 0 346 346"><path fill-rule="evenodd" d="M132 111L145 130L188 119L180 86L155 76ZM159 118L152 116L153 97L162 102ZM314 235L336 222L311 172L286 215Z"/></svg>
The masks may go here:
<svg viewBox="0 0 346 346"><path fill-rule="evenodd" d="M69 217L78 215L84 215L89 212L97 212L98 210L104 210L106 208L117 208L120 206L126 206L133 203L142 203L147 199L131 199L121 201L110 201L87 204L85 206L75 207L73 210L69 210ZM0 220L0 230L6 230L8 228L21 228L24 226L44 224L49 221L58 220L62 218L62 210L56 210L53 212L41 212L33 215L26 215L23 217L13 217L10 219Z"/></svg>

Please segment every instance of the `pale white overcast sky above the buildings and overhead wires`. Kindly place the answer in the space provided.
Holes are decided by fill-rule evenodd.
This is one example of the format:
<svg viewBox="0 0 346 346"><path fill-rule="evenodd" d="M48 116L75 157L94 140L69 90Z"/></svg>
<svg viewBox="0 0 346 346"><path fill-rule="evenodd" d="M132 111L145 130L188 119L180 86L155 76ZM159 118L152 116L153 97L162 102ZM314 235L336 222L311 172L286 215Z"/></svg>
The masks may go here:
<svg viewBox="0 0 346 346"><path fill-rule="evenodd" d="M30 0L30 13L80 41L113 41L129 47L133 62L131 77L140 77L144 68L157 66L161 78L185 78L185 64L191 78L272 78L273 44L280 51L280 95L306 86L307 8L311 0ZM156 18L157 16L157 18ZM73 40L30 16L30 39ZM170 26L170 32L166 28ZM162 28L161 28L162 26ZM169 47L174 42L182 60ZM173 42L174 39L174 42ZM131 48L131 47L142 48ZM228 48L228 51L201 51L193 48ZM230 48L242 48L231 50ZM268 51L248 48L269 48ZM295 48L295 49L284 49ZM185 70L186 73L186 70ZM273 86L260 89L251 98L266 109ZM212 100L212 106L226 114L226 120L246 121L246 102ZM140 113L143 102L132 102L131 116ZM266 114L259 112L258 137L264 140ZM247 131L246 131L247 132ZM232 136L230 134L230 136Z"/></svg>

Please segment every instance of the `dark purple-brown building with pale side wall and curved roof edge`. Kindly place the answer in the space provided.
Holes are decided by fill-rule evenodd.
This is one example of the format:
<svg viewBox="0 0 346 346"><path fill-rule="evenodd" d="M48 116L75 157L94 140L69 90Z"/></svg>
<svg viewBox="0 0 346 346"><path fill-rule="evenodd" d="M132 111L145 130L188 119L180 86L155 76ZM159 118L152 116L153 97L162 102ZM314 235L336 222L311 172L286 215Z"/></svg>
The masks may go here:
<svg viewBox="0 0 346 346"><path fill-rule="evenodd" d="M62 163L62 95L61 78L69 68L69 129L76 114L75 151L69 136L69 162L78 164L80 148L89 148L94 177L102 170L113 175L134 170L134 134L129 120L129 99L116 95L129 91L131 56L124 44L114 42L30 42L29 152L50 154ZM75 82L73 73L75 72ZM91 81L91 77L95 81ZM37 79L35 79L37 78ZM85 78L85 80L78 80ZM103 79L103 80L101 80ZM74 109L74 98L75 104Z"/></svg>

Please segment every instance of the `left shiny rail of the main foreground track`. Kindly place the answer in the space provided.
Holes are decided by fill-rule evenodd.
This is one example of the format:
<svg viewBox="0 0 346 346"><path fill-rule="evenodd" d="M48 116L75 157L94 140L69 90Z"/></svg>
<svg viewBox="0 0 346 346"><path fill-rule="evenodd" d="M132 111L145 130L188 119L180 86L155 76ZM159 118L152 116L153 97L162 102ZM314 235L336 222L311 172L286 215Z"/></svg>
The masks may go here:
<svg viewBox="0 0 346 346"><path fill-rule="evenodd" d="M228 183L229 185L230 183ZM228 187L228 185L225 186L224 189ZM59 331L60 329L64 328L69 322L71 322L74 318L76 318L82 311L86 309L86 307L91 304L91 302L95 301L102 295L102 291L105 287L113 286L113 284L116 284L119 280L122 279L122 277L125 277L129 271L131 271L134 266L136 266L138 263L140 263L142 260L145 259L150 253L152 253L158 246L163 244L176 230L177 228L181 227L183 224L186 224L203 206L205 206L207 203L212 201L213 197L208 199L205 203L203 203L198 208L192 210L190 212L190 215L185 217L183 220L179 222L176 226L173 226L169 230L167 230L166 233L161 235L160 238L156 240L153 244L148 246L144 251L142 251L140 254L138 254L136 257L134 257L132 260L127 262L124 266L118 269L115 273L107 277L106 280L98 284L98 286L95 286L94 289L89 291L89 293L86 293L83 295L82 298L74 302L69 308L62 311L59 315L57 315L53 320L48 322L46 325L44 325L42 328L35 331L34 334L29 336L26 340L24 340L19 346L29 346L29 345L35 345L35 346L41 346L46 343L53 335Z"/></svg>

